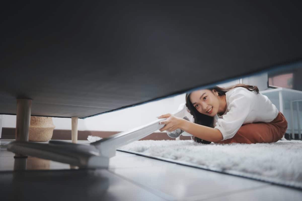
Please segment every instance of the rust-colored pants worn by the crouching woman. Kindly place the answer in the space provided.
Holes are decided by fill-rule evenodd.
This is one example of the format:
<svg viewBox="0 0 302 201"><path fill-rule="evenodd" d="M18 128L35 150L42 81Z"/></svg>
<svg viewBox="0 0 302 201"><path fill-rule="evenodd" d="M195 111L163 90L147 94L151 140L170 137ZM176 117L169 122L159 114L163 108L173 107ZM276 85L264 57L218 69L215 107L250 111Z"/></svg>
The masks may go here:
<svg viewBox="0 0 302 201"><path fill-rule="evenodd" d="M234 137L217 143L272 143L280 140L287 129L287 121L279 112L277 117L269 122L257 122L242 125Z"/></svg>

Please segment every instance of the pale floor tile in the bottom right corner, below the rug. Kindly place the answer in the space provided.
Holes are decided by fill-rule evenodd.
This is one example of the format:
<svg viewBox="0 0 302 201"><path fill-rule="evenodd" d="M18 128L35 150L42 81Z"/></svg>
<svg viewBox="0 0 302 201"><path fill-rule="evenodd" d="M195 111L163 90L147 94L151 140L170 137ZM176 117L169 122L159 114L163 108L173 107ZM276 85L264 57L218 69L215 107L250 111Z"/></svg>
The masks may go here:
<svg viewBox="0 0 302 201"><path fill-rule="evenodd" d="M211 199L197 199L207 201L233 201L233 200L244 200L244 201L300 201L302 200L302 191L291 188L280 187L276 185L269 185L260 187L253 190L246 190L242 192L232 193L229 195L220 195Z"/></svg>

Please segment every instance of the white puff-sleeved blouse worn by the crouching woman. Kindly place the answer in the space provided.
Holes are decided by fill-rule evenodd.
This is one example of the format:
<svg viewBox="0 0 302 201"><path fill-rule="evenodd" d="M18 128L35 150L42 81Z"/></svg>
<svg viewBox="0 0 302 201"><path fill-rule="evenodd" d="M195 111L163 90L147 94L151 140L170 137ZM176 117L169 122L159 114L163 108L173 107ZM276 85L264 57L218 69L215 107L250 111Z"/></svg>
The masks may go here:
<svg viewBox="0 0 302 201"><path fill-rule="evenodd" d="M222 133L226 140L234 137L243 124L271 122L279 111L267 96L256 94L244 87L237 87L226 92L226 111L214 116L214 128Z"/></svg>

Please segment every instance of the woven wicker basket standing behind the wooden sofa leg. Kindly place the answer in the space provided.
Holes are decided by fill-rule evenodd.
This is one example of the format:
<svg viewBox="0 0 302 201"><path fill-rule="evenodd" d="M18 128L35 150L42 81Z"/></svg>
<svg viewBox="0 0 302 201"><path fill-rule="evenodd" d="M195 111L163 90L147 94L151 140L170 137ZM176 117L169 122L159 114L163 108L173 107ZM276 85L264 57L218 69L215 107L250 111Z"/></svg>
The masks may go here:
<svg viewBox="0 0 302 201"><path fill-rule="evenodd" d="M52 117L31 116L28 141L46 142L53 136L54 128Z"/></svg>

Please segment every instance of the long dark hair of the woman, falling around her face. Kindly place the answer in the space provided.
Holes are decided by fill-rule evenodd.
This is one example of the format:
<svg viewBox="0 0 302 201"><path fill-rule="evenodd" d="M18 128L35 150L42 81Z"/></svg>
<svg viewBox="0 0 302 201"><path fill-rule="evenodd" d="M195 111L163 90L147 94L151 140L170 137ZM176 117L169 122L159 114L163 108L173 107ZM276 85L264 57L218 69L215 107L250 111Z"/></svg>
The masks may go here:
<svg viewBox="0 0 302 201"><path fill-rule="evenodd" d="M226 87L226 88L214 86L214 87L208 88L208 90L210 90L212 92L213 92L213 90L215 90L218 92L218 96L223 96L226 94L226 92L228 92L236 87L244 87L249 91L255 91L257 94L259 93L259 89L257 86L246 85L246 84L236 84L236 85ZM188 110L190 111L190 114L193 115L193 117L194 117L194 123L214 128L214 125L213 125L214 117L210 117L208 115L204 115L204 114L201 114L200 112L198 112L197 109L191 103L190 96L191 96L191 93L186 94L186 106L187 106ZM202 140L198 137L195 137L194 141L198 142L198 143L203 143L203 144L211 143L207 140Z"/></svg>

